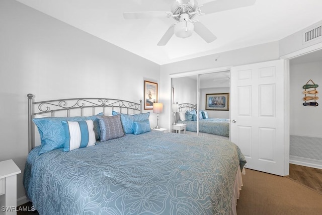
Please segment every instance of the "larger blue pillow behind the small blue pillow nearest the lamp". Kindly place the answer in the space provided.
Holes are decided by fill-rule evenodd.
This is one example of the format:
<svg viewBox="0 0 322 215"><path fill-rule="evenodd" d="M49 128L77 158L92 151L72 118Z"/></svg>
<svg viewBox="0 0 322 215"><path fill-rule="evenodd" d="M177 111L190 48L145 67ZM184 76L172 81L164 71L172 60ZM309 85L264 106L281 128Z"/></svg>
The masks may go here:
<svg viewBox="0 0 322 215"><path fill-rule="evenodd" d="M121 115L121 122L123 126L124 133L134 133L133 131L133 122L144 121L149 119L150 112L147 113L138 113L134 115L118 113L116 111L112 111L112 115Z"/></svg>

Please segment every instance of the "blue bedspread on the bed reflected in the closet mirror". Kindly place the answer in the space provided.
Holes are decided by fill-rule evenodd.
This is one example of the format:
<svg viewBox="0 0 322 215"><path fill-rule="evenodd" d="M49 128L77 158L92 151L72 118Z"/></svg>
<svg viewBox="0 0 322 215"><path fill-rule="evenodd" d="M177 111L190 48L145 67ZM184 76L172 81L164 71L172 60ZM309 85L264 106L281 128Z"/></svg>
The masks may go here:
<svg viewBox="0 0 322 215"><path fill-rule="evenodd" d="M178 120L178 123L186 124L187 131L197 132L197 121ZM199 119L199 132L216 134L219 136L229 136L229 119Z"/></svg>

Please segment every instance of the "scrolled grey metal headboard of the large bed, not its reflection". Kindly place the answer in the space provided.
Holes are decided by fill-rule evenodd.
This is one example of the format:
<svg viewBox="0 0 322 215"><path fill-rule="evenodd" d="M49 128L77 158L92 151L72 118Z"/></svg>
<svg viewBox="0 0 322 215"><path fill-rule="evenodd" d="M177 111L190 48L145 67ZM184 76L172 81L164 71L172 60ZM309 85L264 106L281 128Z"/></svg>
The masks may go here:
<svg viewBox="0 0 322 215"><path fill-rule="evenodd" d="M56 99L48 101L34 102L34 95L28 94L28 149L29 152L34 147L34 132L32 119L36 114L47 114L48 117L54 117L55 113L59 116L83 116L85 111L95 115L103 112L106 115L107 110L117 111L126 114L135 114L142 112L142 100L140 103L125 101L121 99L106 98L72 98ZM86 112L86 113L88 113Z"/></svg>

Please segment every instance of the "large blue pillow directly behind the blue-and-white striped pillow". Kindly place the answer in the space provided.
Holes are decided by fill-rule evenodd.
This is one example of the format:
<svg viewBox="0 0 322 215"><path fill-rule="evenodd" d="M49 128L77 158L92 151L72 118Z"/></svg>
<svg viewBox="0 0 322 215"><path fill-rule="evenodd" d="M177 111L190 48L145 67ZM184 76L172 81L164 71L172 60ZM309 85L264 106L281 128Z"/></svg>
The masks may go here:
<svg viewBox="0 0 322 215"><path fill-rule="evenodd" d="M74 116L74 117L44 117L34 118L32 121L37 125L41 139L41 150L39 155L49 152L51 150L64 148L65 132L61 121L85 121L93 120L95 138L99 139L100 126L99 120L96 116L101 116L99 113L95 116Z"/></svg>

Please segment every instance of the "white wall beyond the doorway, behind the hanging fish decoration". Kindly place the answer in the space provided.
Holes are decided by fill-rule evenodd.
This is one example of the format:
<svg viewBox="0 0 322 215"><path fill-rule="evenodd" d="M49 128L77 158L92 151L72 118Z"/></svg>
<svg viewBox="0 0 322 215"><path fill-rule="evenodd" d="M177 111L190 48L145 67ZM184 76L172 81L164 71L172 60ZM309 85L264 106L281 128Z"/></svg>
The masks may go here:
<svg viewBox="0 0 322 215"><path fill-rule="evenodd" d="M322 137L322 60L318 62L290 64L290 134L299 136ZM319 87L316 102L317 107L303 106L302 88L309 80L312 80ZM309 82L311 84L311 82ZM308 101L309 102L309 101ZM322 148L322 145L321 145Z"/></svg>

